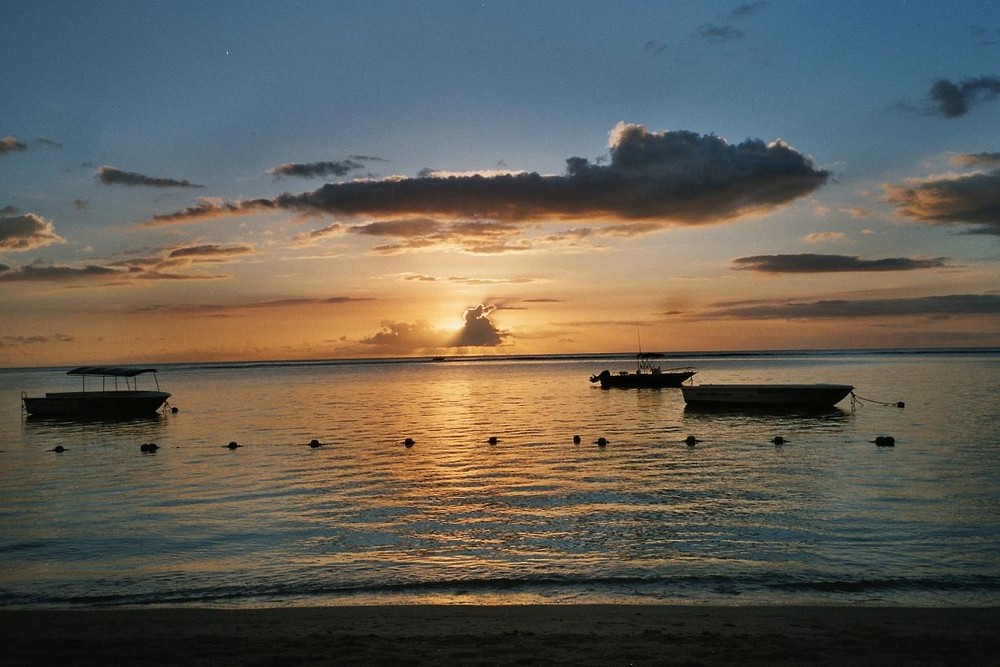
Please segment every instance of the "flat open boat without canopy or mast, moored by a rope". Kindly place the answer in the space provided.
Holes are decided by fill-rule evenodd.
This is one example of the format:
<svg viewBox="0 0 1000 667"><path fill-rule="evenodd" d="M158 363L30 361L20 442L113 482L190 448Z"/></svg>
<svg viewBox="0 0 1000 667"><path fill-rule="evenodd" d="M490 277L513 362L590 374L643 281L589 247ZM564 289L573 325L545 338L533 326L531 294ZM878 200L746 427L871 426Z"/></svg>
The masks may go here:
<svg viewBox="0 0 1000 667"><path fill-rule="evenodd" d="M684 385L688 407L824 409L854 391L849 384L699 384Z"/></svg>

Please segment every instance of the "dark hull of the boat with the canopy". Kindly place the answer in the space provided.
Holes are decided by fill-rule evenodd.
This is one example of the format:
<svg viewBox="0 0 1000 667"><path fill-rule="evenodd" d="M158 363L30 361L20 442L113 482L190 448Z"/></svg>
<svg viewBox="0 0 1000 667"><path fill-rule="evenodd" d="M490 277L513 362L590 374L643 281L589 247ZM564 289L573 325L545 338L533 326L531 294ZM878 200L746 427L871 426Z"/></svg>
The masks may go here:
<svg viewBox="0 0 1000 667"><path fill-rule="evenodd" d="M68 391L22 401L34 417L128 419L156 414L168 398L165 391Z"/></svg>

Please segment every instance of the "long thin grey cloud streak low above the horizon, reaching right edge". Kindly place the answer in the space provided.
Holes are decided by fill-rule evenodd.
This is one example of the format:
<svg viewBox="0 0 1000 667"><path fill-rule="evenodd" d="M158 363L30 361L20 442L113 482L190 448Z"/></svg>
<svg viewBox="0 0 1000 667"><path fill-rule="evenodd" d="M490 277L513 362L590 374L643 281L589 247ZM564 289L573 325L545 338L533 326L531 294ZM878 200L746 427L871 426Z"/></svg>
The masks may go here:
<svg viewBox="0 0 1000 667"><path fill-rule="evenodd" d="M709 318L785 320L899 316L1000 315L1000 294L950 294L901 299L755 301L717 304Z"/></svg>

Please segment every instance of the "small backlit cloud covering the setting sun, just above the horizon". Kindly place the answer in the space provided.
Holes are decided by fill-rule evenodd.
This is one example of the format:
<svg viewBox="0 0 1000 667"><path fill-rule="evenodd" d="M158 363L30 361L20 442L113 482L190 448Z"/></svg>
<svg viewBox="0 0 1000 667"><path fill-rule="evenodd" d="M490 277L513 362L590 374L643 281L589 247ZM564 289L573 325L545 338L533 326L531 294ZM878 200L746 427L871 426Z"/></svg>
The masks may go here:
<svg viewBox="0 0 1000 667"><path fill-rule="evenodd" d="M463 325L458 332L443 331L424 321L382 322L382 330L361 342L396 352L415 352L441 348L499 347L509 334L497 328L490 315L495 305L479 304L466 309Z"/></svg>

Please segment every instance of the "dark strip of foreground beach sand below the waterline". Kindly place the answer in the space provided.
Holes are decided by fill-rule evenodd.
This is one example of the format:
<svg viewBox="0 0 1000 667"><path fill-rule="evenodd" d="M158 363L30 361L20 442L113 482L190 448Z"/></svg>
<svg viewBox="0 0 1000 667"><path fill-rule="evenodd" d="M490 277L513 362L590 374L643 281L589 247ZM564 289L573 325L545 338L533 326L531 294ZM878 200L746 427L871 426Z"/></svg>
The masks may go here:
<svg viewBox="0 0 1000 667"><path fill-rule="evenodd" d="M0 610L7 665L994 665L1000 607Z"/></svg>

